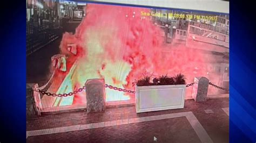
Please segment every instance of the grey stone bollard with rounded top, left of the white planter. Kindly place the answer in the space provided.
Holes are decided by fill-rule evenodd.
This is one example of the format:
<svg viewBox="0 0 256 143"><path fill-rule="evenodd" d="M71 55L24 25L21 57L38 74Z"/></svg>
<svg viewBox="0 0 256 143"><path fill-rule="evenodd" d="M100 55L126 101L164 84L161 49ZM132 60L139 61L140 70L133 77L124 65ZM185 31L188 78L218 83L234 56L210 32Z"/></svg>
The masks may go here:
<svg viewBox="0 0 256 143"><path fill-rule="evenodd" d="M101 112L106 107L104 79L91 79L85 83L87 113Z"/></svg>

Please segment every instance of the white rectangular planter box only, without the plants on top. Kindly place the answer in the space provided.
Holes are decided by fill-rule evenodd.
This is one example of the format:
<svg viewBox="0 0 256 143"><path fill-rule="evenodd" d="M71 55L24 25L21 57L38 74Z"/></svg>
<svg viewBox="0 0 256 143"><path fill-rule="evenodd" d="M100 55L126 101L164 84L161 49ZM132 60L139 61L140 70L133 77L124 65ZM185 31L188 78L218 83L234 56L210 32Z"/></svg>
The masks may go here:
<svg viewBox="0 0 256 143"><path fill-rule="evenodd" d="M186 85L136 85L136 112L184 108Z"/></svg>

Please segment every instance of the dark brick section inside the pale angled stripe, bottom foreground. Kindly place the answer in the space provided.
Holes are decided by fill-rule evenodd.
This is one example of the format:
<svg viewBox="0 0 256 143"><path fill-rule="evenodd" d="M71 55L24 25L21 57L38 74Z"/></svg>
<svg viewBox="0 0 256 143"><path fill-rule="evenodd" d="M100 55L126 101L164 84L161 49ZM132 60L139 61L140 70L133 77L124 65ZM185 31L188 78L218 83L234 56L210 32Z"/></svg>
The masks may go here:
<svg viewBox="0 0 256 143"><path fill-rule="evenodd" d="M164 131L163 131L164 130ZM90 130L38 135L28 142L200 142L185 117Z"/></svg>

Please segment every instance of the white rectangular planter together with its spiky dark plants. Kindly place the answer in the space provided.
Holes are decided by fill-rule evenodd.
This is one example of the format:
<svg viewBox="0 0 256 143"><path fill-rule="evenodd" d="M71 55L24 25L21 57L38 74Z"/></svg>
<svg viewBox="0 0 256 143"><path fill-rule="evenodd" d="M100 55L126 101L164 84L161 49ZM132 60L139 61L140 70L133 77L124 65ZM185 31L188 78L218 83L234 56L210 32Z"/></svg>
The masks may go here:
<svg viewBox="0 0 256 143"><path fill-rule="evenodd" d="M144 76L136 84L136 112L184 108L185 75Z"/></svg>

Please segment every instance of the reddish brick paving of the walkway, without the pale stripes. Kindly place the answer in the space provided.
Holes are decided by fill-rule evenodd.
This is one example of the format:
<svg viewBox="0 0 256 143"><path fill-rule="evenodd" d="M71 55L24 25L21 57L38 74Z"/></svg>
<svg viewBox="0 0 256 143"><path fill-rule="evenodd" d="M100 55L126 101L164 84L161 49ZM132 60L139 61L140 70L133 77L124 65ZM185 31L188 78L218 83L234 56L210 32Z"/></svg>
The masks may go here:
<svg viewBox="0 0 256 143"><path fill-rule="evenodd" d="M38 119L28 120L27 131L192 111L200 124L204 127L205 131L208 133L208 135L210 135L213 142L228 142L228 116L222 109L227 107L228 98L217 98L208 99L208 101L205 103L195 103L192 100L187 100L185 101L184 109L146 113L136 113L134 106L108 108L103 113L86 114L85 111L58 113L56 115L43 115ZM212 110L213 113L207 114L205 110ZM169 128L168 125L172 126ZM167 140L170 140L171 142L187 142L187 138L192 138L190 137L190 135L193 136L193 139L188 142L198 142L198 136L193 135L194 131L191 130L191 126L189 125L190 124L187 122L186 118L179 117L173 119L146 121L145 123L133 123L127 125L93 128L89 130L74 131L68 133L38 135L28 137L27 141L90 142L89 139L91 139L95 140L96 142L115 142L115 140L117 142L140 142L142 140L147 142L150 141L150 139L153 139L153 137L151 137L152 132L156 133L159 131L160 135L158 135L158 138L160 137L162 139L166 139L162 140L163 142L166 142ZM151 126L152 128L150 128L149 126ZM151 132L147 133L147 131ZM174 132L172 133L172 131ZM184 134L179 136L180 133ZM78 138L80 138L81 140L77 140ZM130 139L125 140L124 138Z"/></svg>

